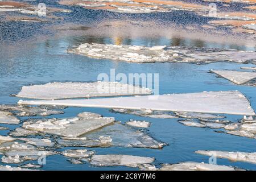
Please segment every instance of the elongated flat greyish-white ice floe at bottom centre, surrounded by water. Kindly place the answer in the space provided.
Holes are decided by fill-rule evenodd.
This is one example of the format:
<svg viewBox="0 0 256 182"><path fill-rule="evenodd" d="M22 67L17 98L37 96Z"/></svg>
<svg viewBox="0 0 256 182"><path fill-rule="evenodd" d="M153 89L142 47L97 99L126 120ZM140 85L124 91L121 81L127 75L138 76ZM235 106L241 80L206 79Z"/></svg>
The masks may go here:
<svg viewBox="0 0 256 182"><path fill-rule="evenodd" d="M148 164L154 160L154 158L133 155L93 155L90 164L93 166L138 167L138 164Z"/></svg>

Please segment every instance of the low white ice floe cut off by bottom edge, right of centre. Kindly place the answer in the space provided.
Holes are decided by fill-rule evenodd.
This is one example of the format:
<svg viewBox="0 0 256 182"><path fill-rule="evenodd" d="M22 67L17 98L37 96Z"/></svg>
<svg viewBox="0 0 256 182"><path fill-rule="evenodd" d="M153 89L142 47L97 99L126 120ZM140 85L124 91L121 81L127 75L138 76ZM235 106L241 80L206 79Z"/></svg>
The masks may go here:
<svg viewBox="0 0 256 182"><path fill-rule="evenodd" d="M163 164L159 171L235 171L231 166L221 166L216 164L184 162L179 164Z"/></svg>

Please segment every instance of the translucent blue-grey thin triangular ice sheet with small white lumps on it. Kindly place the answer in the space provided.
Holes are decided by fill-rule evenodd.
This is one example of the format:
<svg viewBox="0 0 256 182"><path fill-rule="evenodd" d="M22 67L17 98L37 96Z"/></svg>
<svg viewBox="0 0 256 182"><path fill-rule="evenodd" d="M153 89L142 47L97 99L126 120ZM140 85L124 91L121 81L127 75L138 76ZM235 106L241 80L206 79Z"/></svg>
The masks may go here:
<svg viewBox="0 0 256 182"><path fill-rule="evenodd" d="M63 137L57 139L61 146L73 147L138 147L163 148L166 143L158 142L142 131L115 122L100 130L82 135L82 137Z"/></svg>

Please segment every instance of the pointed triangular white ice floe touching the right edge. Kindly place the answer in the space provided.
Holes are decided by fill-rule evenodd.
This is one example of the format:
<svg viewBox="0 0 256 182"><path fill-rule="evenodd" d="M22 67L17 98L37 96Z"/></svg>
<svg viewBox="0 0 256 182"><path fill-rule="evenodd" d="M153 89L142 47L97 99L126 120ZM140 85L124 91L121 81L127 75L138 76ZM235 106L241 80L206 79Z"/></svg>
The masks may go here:
<svg viewBox="0 0 256 182"><path fill-rule="evenodd" d="M255 72L241 72L241 71L228 71L228 70L223 70L223 71L210 70L210 71L238 85L245 84L246 82L256 78Z"/></svg>

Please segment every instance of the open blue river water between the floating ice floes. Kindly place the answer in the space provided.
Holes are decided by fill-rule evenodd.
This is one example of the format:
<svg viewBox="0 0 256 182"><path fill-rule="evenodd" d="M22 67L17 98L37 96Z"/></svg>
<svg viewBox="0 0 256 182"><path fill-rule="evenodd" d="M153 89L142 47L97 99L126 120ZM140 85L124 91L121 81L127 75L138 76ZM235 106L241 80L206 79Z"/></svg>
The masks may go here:
<svg viewBox="0 0 256 182"><path fill-rule="evenodd" d="M80 10L79 10L80 11ZM84 12L90 10L82 10ZM53 81L97 81L100 73L110 73L110 69L115 69L116 73L159 73L159 94L166 93L192 93L203 91L218 90L240 90L251 102L251 106L256 109L256 88L253 86L240 86L218 78L209 73L209 69L234 69L238 70L245 64L218 62L212 64L186 64L186 63L150 63L135 64L112 60L96 60L86 56L71 55L67 49L71 46L77 46L85 42L113 43L112 38L95 38L85 36L44 36L43 39L30 40L34 31L26 29L32 27L30 23L6 23L9 26L9 33L4 29L5 36L2 34L2 43L0 45L0 104L16 104L20 98L10 97L10 94L16 94L24 85L44 84ZM13 27L10 28L10 27ZM24 34L16 32L17 27L23 27L26 30ZM38 25L40 28L40 24ZM41 27L42 28L42 27ZM34 32L35 33L35 32ZM21 40L11 40L12 34L24 36ZM31 34L31 35L30 35ZM3 40L10 40L7 44ZM81 41L82 40L82 41ZM186 40L185 46L191 46L191 40ZM125 42L125 40L124 40ZM129 44L135 45L164 45L171 44L174 39L131 39ZM125 42L125 43L127 43ZM205 43L214 47L214 44ZM192 45L194 46L194 45ZM245 49L245 48L241 48ZM253 66L247 64L246 66ZM105 117L115 117L122 123L129 119L146 120L152 125L144 130L147 134L156 140L168 143L162 150L146 148L88 148L96 151L97 154L127 154L138 156L152 156L156 160L154 164L159 166L162 163L179 162L205 162L208 163L208 156L195 154L196 150L222 150L222 151L244 151L255 152L255 139L237 137L225 133L217 133L214 129L201 129L196 127L183 126L177 119L155 119L144 118L130 114L111 113L108 109L101 108L82 108L68 107L64 109L65 113L61 115L51 115L47 118L67 118L75 117L83 111L91 111L104 115ZM241 115L226 115L227 119L237 122ZM20 117L22 121L26 117ZM20 125L3 125L14 130ZM221 130L219 130L221 131ZM7 135L9 131L0 131L0 135ZM65 147L59 149L65 150ZM0 156L1 157L1 156ZM28 163L28 162L26 162ZM1 163L0 163L1 164ZM256 166L250 163L230 162L226 159L217 159L217 164L230 165L240 168L255 170ZM11 165L17 166L17 165ZM46 165L42 167L45 170L130 170L129 167L93 167L90 164L71 164L62 155L48 156Z"/></svg>

